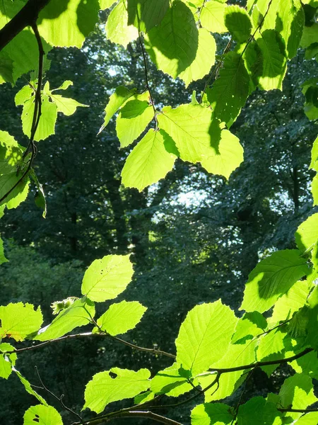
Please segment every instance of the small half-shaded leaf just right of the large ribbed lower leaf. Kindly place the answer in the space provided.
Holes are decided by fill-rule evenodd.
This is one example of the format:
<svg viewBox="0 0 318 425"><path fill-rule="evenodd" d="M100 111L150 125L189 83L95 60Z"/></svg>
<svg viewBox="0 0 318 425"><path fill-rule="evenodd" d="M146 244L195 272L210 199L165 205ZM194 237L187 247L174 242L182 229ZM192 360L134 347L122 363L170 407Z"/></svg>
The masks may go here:
<svg viewBox="0 0 318 425"><path fill-rule="evenodd" d="M267 322L263 314L259 312L245 313L237 322L232 344L235 344L247 336L257 336L267 328Z"/></svg>

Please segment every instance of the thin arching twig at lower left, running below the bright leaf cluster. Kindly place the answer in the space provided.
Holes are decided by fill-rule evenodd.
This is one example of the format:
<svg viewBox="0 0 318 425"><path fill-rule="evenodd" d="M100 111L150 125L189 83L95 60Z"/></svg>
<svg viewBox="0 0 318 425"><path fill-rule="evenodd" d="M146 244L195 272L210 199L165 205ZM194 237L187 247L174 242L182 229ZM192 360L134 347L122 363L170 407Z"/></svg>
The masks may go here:
<svg viewBox="0 0 318 425"><path fill-rule="evenodd" d="M117 336L112 336L105 333L93 334L93 332L84 332L83 334L65 335L65 336L61 336L60 338L49 339L49 341L42 342L41 344L36 344L36 345L25 347L25 348L15 348L14 350L4 351L3 353L12 354L12 353L21 353L22 351L36 350L37 348L43 348L49 344L53 344L54 342L64 341L65 339L85 338L86 336L107 336L108 338L114 339L114 341L120 342L121 344L129 346L130 348L133 348L138 351L145 351L146 353L155 354L156 356L158 355L158 356L166 356L170 358L175 358L174 354L166 353L165 351L162 351L162 350L155 350L155 348L145 348L145 347L136 346L135 344L131 344L128 341L124 341L124 339L117 338Z"/></svg>

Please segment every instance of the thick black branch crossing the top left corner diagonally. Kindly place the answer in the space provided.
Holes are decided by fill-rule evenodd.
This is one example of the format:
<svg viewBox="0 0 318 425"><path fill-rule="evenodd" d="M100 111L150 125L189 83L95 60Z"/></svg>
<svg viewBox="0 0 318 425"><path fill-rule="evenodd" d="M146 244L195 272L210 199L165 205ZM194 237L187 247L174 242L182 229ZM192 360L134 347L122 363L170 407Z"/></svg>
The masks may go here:
<svg viewBox="0 0 318 425"><path fill-rule="evenodd" d="M22 30L32 26L37 20L42 8L49 4L50 0L29 0L27 4L0 30L0 51L6 47Z"/></svg>

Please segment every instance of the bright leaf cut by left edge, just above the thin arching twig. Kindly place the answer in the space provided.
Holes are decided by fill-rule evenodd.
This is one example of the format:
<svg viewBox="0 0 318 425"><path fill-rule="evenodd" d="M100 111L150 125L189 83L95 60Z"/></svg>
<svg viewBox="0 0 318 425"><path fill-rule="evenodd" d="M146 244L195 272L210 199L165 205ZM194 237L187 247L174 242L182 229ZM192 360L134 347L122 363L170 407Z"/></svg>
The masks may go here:
<svg viewBox="0 0 318 425"><path fill-rule="evenodd" d="M32 304L8 304L0 306L0 336L23 341L25 337L40 329L43 322L40 307L34 309Z"/></svg>

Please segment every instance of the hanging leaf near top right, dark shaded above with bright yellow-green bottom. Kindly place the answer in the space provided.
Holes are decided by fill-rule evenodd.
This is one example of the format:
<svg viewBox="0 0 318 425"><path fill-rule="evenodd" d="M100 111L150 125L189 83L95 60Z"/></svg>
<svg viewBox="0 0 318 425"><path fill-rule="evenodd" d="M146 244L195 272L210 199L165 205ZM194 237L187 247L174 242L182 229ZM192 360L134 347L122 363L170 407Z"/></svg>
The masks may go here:
<svg viewBox="0 0 318 425"><path fill-rule="evenodd" d="M257 39L257 44L263 56L263 72L259 78L259 86L264 90L282 90L286 57L281 35L275 30L265 30Z"/></svg>

